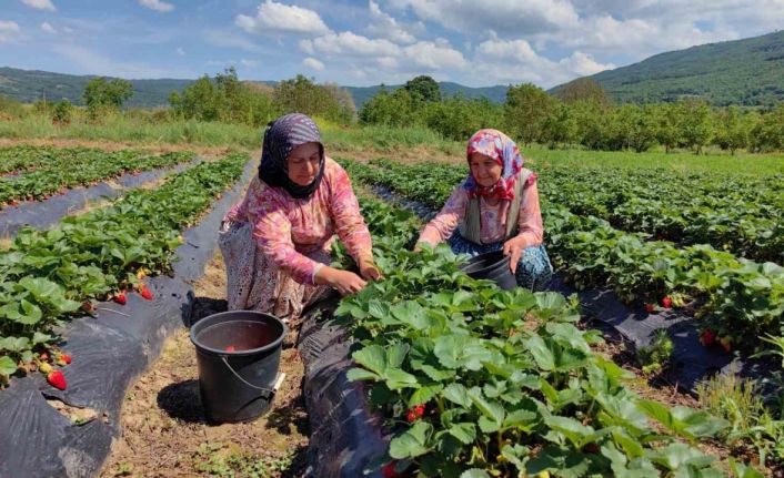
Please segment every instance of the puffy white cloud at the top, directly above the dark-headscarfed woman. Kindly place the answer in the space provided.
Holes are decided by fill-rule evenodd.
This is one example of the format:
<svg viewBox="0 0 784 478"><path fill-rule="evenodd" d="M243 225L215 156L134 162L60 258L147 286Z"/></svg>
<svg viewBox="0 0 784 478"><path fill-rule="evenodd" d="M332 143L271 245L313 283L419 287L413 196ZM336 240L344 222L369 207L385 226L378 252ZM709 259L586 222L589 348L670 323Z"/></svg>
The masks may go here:
<svg viewBox="0 0 784 478"><path fill-rule="evenodd" d="M313 10L267 0L255 17L237 16L234 22L249 33L279 35L287 33L318 37L330 29Z"/></svg>

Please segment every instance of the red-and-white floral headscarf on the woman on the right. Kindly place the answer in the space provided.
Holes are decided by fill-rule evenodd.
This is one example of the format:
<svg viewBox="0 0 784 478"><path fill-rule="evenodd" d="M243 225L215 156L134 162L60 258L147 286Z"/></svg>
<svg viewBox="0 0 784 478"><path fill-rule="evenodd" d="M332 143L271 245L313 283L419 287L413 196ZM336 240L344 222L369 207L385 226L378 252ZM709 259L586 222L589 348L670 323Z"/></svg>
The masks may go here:
<svg viewBox="0 0 784 478"><path fill-rule="evenodd" d="M481 153L494 159L503 166L503 172L499 182L489 187L479 184L474 180L473 174L469 173L469 177L463 184L463 187L469 192L469 196L496 197L512 201L514 199L514 183L517 182L524 163L514 141L499 130L479 130L469 140L465 153L469 162L473 153Z"/></svg>

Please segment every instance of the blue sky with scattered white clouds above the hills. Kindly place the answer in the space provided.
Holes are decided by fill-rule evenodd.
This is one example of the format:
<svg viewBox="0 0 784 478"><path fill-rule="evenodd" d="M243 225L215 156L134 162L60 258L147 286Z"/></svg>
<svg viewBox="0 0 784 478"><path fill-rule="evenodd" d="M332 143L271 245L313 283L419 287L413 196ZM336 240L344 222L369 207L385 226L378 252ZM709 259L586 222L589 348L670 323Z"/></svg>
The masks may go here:
<svg viewBox="0 0 784 478"><path fill-rule="evenodd" d="M0 0L0 65L549 88L782 26L784 0Z"/></svg>

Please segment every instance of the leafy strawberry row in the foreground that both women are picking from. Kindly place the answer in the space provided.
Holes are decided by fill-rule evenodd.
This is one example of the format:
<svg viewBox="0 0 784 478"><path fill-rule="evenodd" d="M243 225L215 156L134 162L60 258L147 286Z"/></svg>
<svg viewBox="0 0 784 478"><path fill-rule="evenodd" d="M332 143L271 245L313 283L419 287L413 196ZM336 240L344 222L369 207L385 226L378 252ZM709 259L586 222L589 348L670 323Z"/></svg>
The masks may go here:
<svg viewBox="0 0 784 478"><path fill-rule="evenodd" d="M360 181L374 174L349 167ZM411 214L361 203L385 279L344 298L335 315L359 342L349 377L369 383L370 406L392 431L371 468L385 477L725 476L694 445L726 423L630 391L630 373L592 352L601 336L575 326L574 303L474 281L445 245L410 252Z"/></svg>

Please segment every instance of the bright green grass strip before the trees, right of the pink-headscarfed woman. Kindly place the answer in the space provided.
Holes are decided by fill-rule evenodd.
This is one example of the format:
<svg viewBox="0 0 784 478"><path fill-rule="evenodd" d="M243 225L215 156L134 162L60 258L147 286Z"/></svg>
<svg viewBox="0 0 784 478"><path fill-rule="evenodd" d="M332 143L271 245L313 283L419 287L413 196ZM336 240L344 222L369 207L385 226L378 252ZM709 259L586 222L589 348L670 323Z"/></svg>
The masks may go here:
<svg viewBox="0 0 784 478"><path fill-rule="evenodd" d="M726 173L747 175L784 174L784 154L744 154L711 152L695 155L688 152L651 151L585 151L523 148L523 155L535 163L562 165L604 166L625 169L663 169L673 173Z"/></svg>

